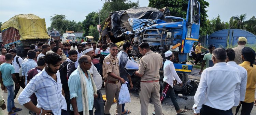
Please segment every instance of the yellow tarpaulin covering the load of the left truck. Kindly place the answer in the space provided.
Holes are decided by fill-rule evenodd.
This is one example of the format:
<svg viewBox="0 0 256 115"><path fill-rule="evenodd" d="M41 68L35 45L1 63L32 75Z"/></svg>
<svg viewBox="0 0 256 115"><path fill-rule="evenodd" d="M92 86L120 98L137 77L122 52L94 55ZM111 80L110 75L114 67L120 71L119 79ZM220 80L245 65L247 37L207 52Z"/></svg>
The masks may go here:
<svg viewBox="0 0 256 115"><path fill-rule="evenodd" d="M19 14L4 22L1 30L13 27L19 30L20 39L50 39L44 18L34 14Z"/></svg>

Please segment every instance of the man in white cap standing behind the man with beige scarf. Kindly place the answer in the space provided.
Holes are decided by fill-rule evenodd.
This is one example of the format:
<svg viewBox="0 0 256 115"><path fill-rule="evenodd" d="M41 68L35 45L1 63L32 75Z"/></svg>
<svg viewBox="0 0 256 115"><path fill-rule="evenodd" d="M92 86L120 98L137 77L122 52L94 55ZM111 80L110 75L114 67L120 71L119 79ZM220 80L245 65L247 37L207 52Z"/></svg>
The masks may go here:
<svg viewBox="0 0 256 115"><path fill-rule="evenodd" d="M83 51L82 55L87 55L91 57L91 60L94 59L94 50L92 47L85 47L85 51ZM102 77L98 72L97 68L94 66L93 62L91 62L90 73L93 76L93 80L97 87L98 98L94 99L94 107L95 107L95 115L103 115L104 114L104 105L103 105L103 98L101 94L101 87L102 87Z"/></svg>

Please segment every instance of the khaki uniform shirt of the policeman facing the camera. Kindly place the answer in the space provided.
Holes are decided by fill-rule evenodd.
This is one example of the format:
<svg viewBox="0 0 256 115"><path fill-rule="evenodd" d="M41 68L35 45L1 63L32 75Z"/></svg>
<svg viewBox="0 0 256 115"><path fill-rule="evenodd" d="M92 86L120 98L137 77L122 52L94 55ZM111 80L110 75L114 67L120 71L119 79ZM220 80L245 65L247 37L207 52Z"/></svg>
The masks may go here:
<svg viewBox="0 0 256 115"><path fill-rule="evenodd" d="M102 70L104 80L118 81L117 79L111 77L108 74L110 72L113 72L115 75L120 76L117 57L114 58L111 54L106 56L103 61Z"/></svg>

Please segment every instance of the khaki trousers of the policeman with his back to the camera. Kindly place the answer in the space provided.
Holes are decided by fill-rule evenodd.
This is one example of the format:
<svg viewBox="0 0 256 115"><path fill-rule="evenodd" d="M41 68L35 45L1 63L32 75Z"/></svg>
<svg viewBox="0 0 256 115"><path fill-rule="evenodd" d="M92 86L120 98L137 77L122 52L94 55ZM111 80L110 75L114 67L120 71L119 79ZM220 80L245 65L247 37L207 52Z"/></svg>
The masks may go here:
<svg viewBox="0 0 256 115"><path fill-rule="evenodd" d="M147 115L148 104L150 98L155 107L155 115L162 115L162 105L160 101L160 85L159 82L143 83L140 84L140 112L141 115Z"/></svg>

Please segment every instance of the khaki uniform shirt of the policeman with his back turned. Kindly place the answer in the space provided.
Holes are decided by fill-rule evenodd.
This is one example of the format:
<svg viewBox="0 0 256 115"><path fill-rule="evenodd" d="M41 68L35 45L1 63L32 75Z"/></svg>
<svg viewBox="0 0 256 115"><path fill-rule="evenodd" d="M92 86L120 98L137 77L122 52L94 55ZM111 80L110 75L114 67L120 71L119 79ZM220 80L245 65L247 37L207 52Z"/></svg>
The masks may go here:
<svg viewBox="0 0 256 115"><path fill-rule="evenodd" d="M147 52L140 59L139 74L143 74L141 81L159 80L159 69L163 65L163 58L153 51Z"/></svg>

